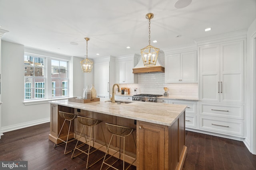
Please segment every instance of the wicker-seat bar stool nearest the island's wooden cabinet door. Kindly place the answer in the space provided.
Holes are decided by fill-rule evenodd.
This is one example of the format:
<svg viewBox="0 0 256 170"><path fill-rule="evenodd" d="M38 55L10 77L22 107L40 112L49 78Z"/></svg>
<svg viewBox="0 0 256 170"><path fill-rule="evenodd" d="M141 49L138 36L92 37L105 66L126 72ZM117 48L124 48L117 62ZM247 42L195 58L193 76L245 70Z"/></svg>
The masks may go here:
<svg viewBox="0 0 256 170"><path fill-rule="evenodd" d="M130 128L130 127L125 127L125 126L120 126L120 125L114 125L114 124L111 124L111 123L106 123L106 127L107 127L108 131L109 131L110 133L112 133L112 137L111 137L110 142L109 142L109 144L108 144L108 149L109 149L110 143L111 143L111 141L112 141L112 139L113 139L113 136L116 135L116 136L119 136L119 137L120 137L120 146L119 146L119 150L114 153L114 154L116 154L117 152L119 152L119 158L117 158L117 160L116 160L115 162L113 162L112 164L106 163L106 161L107 161L109 158L111 158L112 156L114 156L114 154L112 154L110 157L108 157L108 158L106 159L106 155L108 154L108 153L107 153L107 152L108 152L108 149L107 149L107 152L106 152L106 154L105 154L105 156L104 156L104 159L103 159L102 165L101 165L101 167L100 167L100 170L102 169L103 164L108 165L108 166L109 166L108 168L112 167L112 168L118 170L118 169L115 168L113 165L114 165L114 164L120 159L120 157L121 157L121 139L122 139L122 138L124 139L124 144L125 144L125 137L127 137L128 135L130 135L133 131L135 131L135 129ZM135 147L136 147L136 142L135 142L133 133L132 133L132 136L133 136L134 144L135 144ZM123 155L124 155L124 150L123 150ZM105 159L106 159L106 160L105 160ZM126 168L126 170L127 170L135 161L136 161L136 159ZM108 168L107 168L107 169L108 169ZM124 170L124 157L123 157L123 170Z"/></svg>

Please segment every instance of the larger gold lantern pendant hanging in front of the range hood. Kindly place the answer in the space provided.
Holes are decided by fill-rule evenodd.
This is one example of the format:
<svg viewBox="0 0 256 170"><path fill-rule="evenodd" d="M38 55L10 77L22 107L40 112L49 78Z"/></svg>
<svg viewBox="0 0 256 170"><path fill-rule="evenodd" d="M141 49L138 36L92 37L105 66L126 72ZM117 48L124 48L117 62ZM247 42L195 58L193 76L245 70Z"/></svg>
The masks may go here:
<svg viewBox="0 0 256 170"><path fill-rule="evenodd" d="M156 65L156 60L158 57L158 52L159 49L156 47L153 47L152 45L150 45L150 20L154 17L154 14L149 13L146 14L146 19L148 19L148 33L149 33L149 45L147 47L145 47L144 49L141 49L141 57L142 57L142 61L144 63L144 66L155 66Z"/></svg>

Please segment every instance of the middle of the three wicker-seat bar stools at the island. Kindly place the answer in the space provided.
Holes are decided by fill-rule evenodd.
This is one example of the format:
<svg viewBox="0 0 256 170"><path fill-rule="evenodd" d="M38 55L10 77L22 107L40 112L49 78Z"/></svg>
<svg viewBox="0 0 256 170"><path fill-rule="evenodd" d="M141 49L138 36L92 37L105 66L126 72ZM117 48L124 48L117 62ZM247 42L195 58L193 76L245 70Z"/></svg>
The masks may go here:
<svg viewBox="0 0 256 170"><path fill-rule="evenodd" d="M104 146L106 146L106 148L107 148L106 139L105 139L105 136L104 136L104 132L103 132L103 129L102 129L102 125L100 124L102 121L97 120L97 119L92 119L92 118L89 118L89 117L82 117L82 116L77 116L77 119L78 119L79 123L81 123L81 124L83 125L83 127L82 127L82 130L81 130L80 136L78 137L78 141L77 141L77 143L76 143L76 147L75 147L75 149L74 149L74 151L73 151L73 154L72 154L71 158L74 158L74 157L76 157L76 156L78 156L78 155L80 155L80 154L82 154L82 153L85 153L85 154L87 155L86 168L88 169L88 168L90 168L92 165L94 165L94 164L96 164L98 161L100 161L102 158L104 158L104 156L102 156L101 158L99 158L98 160L96 160L96 161L94 161L92 164L90 164L90 166L88 166L88 160L89 160L89 155L90 155L90 154L92 154L93 152L95 152L96 150L99 150L100 148L102 148L102 147L104 147ZM93 150L93 151L90 152L90 149L92 149L92 148L94 147L94 140L95 140L94 137L93 137L94 126L95 126L95 125L98 125L98 124L100 124L100 126L101 126L102 134L103 134L103 137L104 137L105 144L102 145L101 147L99 147L98 149L95 149L95 150ZM91 128L89 141L87 141L88 137L86 137L86 136L85 136L85 133L84 133L84 127L85 127L85 126ZM84 137L84 139L85 139L85 143L82 143L82 144L78 145L78 142L79 142L79 139L80 139L82 133L83 133L83 137ZM88 134L88 133L86 133L86 134ZM91 141L92 141L92 146L91 146ZM86 150L80 149L80 147L82 147L82 146L84 146L84 145L86 145L86 144L89 145L88 149L86 149ZM76 156L73 156L76 149L77 149L77 150L80 150L80 153L77 154Z"/></svg>

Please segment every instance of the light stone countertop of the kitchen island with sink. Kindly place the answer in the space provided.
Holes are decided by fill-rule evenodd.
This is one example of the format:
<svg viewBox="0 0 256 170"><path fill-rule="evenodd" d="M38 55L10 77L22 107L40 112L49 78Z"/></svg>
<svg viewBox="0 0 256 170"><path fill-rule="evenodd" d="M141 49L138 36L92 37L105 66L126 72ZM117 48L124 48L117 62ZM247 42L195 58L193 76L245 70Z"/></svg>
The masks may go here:
<svg viewBox="0 0 256 170"><path fill-rule="evenodd" d="M49 103L167 126L172 125L187 107L153 102L130 102L129 104L116 104L100 101L84 104L68 100L54 100Z"/></svg>

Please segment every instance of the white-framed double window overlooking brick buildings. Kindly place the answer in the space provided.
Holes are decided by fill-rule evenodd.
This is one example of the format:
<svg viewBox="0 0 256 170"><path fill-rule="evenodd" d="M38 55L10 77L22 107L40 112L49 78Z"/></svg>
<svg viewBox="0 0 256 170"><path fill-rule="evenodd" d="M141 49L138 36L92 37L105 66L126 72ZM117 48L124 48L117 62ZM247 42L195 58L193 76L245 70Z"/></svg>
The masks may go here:
<svg viewBox="0 0 256 170"><path fill-rule="evenodd" d="M47 66L47 60L51 65ZM49 63L49 62L48 62ZM46 69L48 68L48 76ZM51 87L47 88L50 86ZM47 94L52 94L47 97ZM68 61L24 55L24 100L68 97Z"/></svg>

